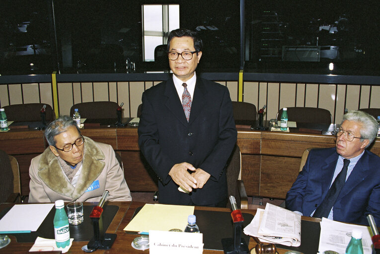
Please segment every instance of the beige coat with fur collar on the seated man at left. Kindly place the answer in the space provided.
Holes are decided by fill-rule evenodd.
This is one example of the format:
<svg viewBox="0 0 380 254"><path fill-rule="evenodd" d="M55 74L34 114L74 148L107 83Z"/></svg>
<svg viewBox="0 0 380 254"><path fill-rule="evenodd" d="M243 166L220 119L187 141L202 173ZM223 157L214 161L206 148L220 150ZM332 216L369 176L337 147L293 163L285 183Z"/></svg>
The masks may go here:
<svg viewBox="0 0 380 254"><path fill-rule="evenodd" d="M55 202L58 199L96 202L105 190L109 191L107 200L132 200L112 146L84 138L82 170L76 187L69 182L59 160L48 147L31 161L29 202ZM99 188L87 191L97 180Z"/></svg>

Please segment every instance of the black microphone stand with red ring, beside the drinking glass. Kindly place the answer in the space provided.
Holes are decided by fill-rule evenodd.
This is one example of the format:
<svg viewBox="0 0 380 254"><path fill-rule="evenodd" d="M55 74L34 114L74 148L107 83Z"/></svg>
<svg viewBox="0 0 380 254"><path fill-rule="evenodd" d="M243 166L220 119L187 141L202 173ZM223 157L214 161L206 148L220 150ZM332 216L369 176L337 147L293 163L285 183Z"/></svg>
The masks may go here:
<svg viewBox="0 0 380 254"><path fill-rule="evenodd" d="M94 237L88 242L87 248L93 250L109 250L116 239L116 234L108 234L103 232L103 205L109 194L109 191L104 191L97 206L92 209L90 218L94 227Z"/></svg>

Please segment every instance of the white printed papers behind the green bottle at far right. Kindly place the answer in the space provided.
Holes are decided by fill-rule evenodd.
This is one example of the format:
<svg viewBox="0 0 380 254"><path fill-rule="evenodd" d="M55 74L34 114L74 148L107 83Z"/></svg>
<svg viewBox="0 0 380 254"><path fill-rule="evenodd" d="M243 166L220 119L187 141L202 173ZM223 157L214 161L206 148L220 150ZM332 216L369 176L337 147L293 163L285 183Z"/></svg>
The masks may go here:
<svg viewBox="0 0 380 254"><path fill-rule="evenodd" d="M351 240L353 229L362 231L362 244L364 254L372 254L372 240L369 227L347 224L322 218L320 222L319 253L334 251L340 254L346 253L346 248Z"/></svg>

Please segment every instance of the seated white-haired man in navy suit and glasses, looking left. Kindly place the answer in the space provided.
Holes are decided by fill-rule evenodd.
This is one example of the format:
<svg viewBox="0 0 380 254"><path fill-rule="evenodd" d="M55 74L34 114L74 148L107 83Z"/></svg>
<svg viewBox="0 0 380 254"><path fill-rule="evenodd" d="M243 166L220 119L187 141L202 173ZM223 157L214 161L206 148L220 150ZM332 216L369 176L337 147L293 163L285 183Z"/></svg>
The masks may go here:
<svg viewBox="0 0 380 254"><path fill-rule="evenodd" d="M286 208L304 216L380 225L380 157L366 148L378 123L361 111L343 116L333 148L312 149L286 195ZM342 172L342 174L340 174Z"/></svg>

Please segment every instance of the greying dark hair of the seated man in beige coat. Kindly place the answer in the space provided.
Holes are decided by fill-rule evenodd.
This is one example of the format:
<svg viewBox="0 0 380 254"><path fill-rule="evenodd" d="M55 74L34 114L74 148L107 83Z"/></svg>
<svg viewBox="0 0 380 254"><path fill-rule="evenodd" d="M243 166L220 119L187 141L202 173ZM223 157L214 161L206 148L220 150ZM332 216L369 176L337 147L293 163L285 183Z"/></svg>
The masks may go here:
<svg viewBox="0 0 380 254"><path fill-rule="evenodd" d="M60 116L53 122L51 122L45 129L45 137L49 145L56 146L56 140L54 137L56 135L65 132L69 127L75 126L80 134L80 129L76 122L69 116Z"/></svg>

